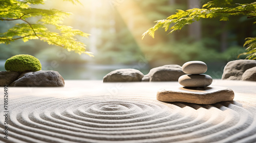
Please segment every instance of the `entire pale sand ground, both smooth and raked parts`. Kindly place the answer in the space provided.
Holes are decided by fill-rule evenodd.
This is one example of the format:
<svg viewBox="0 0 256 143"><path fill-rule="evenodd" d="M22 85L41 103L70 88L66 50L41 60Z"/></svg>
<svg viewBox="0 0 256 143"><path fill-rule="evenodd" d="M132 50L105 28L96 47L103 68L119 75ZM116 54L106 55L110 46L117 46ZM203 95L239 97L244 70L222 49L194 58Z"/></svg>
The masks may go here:
<svg viewBox="0 0 256 143"><path fill-rule="evenodd" d="M157 91L171 86L179 84L9 87L7 110L0 100L0 142L256 142L256 82L214 80L235 96L211 105L157 101Z"/></svg>

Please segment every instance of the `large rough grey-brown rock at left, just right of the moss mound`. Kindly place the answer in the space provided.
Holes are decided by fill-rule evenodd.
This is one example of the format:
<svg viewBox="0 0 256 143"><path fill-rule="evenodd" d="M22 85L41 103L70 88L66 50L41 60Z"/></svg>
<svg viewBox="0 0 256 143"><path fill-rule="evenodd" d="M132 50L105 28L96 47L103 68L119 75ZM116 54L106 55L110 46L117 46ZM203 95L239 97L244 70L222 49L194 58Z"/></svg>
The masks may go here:
<svg viewBox="0 0 256 143"><path fill-rule="evenodd" d="M58 71L39 70L21 74L10 86L20 87L57 87L64 86L65 82Z"/></svg>

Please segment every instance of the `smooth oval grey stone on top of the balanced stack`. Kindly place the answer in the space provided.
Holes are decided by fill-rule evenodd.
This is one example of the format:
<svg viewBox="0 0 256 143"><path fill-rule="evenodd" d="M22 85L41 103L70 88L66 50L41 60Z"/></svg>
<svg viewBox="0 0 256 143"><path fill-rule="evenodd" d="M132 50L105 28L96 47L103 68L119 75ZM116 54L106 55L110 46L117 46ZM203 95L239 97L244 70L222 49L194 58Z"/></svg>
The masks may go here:
<svg viewBox="0 0 256 143"><path fill-rule="evenodd" d="M182 65L186 74L203 74L207 71L207 65L202 61L189 61Z"/></svg>

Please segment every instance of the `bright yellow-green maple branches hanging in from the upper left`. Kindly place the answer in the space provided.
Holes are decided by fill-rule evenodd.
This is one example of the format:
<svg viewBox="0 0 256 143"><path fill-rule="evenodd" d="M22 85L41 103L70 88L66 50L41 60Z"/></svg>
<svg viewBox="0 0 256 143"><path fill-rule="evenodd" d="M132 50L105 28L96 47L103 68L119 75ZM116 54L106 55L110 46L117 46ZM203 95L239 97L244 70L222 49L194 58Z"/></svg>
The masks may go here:
<svg viewBox="0 0 256 143"><path fill-rule="evenodd" d="M90 34L69 26L61 25L63 18L71 13L62 12L56 9L31 8L30 5L44 4L46 0L1 0L0 1L0 20L17 21L16 25L5 33L0 33L0 43L9 44L12 41L22 39L24 42L30 39L40 39L48 44L57 45L74 51L78 54L92 53L86 51L86 45L75 39L76 35L88 37ZM63 0L73 4L79 3L78 0ZM37 17L35 23L30 22L30 17ZM54 26L57 32L50 31L47 26Z"/></svg>

